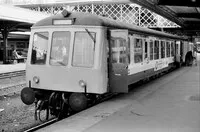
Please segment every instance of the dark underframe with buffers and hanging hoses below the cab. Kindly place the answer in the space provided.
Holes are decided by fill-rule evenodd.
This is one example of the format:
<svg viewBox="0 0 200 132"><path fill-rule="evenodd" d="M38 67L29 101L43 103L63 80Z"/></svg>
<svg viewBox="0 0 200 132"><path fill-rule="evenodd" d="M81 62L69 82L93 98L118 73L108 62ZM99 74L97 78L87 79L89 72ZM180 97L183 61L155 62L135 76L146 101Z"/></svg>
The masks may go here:
<svg viewBox="0 0 200 132"><path fill-rule="evenodd" d="M35 119L40 121L48 120L50 114L58 119L65 118L92 106L103 97L100 94L50 91L36 88L24 88L23 90L22 93L29 93L29 95L31 93L33 96ZM46 111L45 119L41 119L41 111Z"/></svg>

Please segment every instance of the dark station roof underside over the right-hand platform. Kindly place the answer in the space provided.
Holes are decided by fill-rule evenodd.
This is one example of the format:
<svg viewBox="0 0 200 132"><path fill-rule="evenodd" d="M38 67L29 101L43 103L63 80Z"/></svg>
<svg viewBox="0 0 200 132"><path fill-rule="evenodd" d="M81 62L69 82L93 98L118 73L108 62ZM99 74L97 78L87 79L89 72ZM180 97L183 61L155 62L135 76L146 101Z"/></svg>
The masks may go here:
<svg viewBox="0 0 200 132"><path fill-rule="evenodd" d="M177 32L200 36L200 0L130 0L181 26ZM172 30L172 29L171 29Z"/></svg>

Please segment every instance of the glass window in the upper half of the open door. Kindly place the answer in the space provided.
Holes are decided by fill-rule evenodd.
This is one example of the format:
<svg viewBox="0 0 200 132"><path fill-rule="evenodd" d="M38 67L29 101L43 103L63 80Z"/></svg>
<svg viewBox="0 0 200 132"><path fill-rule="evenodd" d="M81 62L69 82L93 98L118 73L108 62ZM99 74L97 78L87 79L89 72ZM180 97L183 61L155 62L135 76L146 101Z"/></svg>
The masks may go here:
<svg viewBox="0 0 200 132"><path fill-rule="evenodd" d="M123 38L112 38L112 63L129 63L126 53L126 40Z"/></svg>

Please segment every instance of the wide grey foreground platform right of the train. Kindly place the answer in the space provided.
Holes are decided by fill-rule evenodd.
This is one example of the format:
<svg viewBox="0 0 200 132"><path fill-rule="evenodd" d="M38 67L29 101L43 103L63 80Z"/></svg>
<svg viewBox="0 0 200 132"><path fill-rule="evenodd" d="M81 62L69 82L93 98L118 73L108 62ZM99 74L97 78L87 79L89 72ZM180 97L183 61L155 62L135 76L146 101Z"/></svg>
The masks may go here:
<svg viewBox="0 0 200 132"><path fill-rule="evenodd" d="M38 131L200 132L199 62Z"/></svg>

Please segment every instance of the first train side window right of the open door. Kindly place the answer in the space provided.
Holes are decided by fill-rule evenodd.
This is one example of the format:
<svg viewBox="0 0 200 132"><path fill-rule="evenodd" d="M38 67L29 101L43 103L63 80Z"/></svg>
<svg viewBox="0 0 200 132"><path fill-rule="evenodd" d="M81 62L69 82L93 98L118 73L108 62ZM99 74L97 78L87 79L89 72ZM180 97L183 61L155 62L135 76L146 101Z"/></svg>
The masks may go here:
<svg viewBox="0 0 200 132"><path fill-rule="evenodd" d="M135 39L134 43L134 62L140 63L143 61L142 39Z"/></svg>

